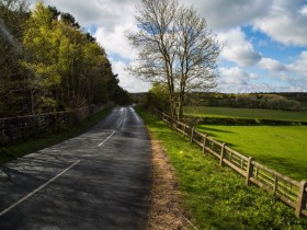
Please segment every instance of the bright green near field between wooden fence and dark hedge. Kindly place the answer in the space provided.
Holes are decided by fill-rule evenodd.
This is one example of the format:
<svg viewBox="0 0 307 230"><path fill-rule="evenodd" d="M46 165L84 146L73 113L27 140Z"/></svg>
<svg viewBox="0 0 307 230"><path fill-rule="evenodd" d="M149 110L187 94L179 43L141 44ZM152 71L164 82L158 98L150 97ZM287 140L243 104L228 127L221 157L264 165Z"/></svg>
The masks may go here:
<svg viewBox="0 0 307 230"><path fill-rule="evenodd" d="M197 129L284 175L307 180L307 126L200 125Z"/></svg>

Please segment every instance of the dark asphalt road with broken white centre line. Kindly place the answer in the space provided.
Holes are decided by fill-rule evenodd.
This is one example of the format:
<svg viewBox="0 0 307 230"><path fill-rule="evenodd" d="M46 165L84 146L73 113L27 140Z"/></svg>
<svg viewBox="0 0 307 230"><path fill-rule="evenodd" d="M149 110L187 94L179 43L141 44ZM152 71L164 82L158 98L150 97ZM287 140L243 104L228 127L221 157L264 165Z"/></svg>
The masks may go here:
<svg viewBox="0 0 307 230"><path fill-rule="evenodd" d="M133 107L0 165L0 229L145 229L150 140Z"/></svg>

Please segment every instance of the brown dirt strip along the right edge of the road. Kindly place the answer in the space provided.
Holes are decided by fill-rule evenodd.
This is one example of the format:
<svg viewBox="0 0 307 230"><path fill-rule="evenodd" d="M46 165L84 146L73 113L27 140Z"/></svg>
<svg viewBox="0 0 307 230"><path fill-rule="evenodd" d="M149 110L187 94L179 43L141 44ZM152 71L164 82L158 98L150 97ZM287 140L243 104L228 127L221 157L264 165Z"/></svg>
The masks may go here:
<svg viewBox="0 0 307 230"><path fill-rule="evenodd" d="M148 230L194 229L184 217L174 171L158 140L151 140L152 189Z"/></svg>

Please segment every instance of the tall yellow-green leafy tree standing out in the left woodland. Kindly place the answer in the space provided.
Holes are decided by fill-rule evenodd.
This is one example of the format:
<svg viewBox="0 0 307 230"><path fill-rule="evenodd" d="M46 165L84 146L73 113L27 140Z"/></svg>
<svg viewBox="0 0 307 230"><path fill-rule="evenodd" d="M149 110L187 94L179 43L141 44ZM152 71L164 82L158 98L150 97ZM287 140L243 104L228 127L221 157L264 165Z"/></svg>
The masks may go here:
<svg viewBox="0 0 307 230"><path fill-rule="evenodd" d="M55 110L53 89L60 84L58 71L58 48L61 31L55 26L53 12L39 1L30 20L23 37L26 60L23 66L32 73L29 81L32 114L42 107ZM53 101L53 103L50 103ZM48 102L44 104L44 102Z"/></svg>

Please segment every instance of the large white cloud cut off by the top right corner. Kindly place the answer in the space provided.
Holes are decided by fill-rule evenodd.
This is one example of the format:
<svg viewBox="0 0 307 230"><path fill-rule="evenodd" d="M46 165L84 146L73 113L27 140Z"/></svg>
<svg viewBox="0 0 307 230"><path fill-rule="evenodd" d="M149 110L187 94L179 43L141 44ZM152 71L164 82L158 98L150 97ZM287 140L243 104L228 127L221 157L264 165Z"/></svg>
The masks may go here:
<svg viewBox="0 0 307 230"><path fill-rule="evenodd" d="M255 19L254 28L285 45L307 45L307 7L302 0L275 0L268 15Z"/></svg>

